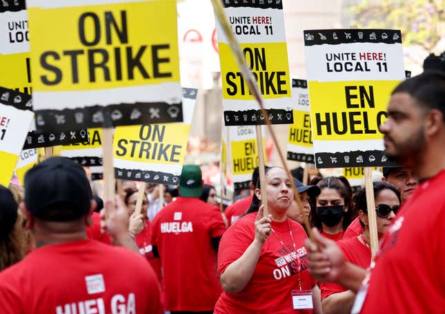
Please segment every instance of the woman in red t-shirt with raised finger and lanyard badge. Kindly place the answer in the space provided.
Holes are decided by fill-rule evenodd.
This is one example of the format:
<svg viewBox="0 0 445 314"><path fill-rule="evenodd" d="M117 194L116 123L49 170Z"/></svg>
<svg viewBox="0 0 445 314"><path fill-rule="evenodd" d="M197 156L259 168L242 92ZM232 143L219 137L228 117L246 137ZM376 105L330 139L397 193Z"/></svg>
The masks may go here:
<svg viewBox="0 0 445 314"><path fill-rule="evenodd" d="M257 181L247 214L221 239L218 275L224 292L215 314L313 313L312 308L293 303L295 291L312 291L316 282L307 271L306 233L286 217L294 197L290 179L280 167L266 167L265 172L268 215L260 206ZM319 297L311 293L305 297L311 298L319 311Z"/></svg>

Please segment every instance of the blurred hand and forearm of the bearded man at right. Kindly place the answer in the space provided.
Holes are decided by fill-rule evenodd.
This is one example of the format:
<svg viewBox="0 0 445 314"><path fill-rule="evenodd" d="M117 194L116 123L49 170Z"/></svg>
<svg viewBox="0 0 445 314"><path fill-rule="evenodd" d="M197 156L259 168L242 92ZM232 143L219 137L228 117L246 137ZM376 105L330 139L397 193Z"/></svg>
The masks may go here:
<svg viewBox="0 0 445 314"><path fill-rule="evenodd" d="M306 240L310 251L309 272L319 282L335 282L357 292L366 277L366 270L344 259L342 250L333 240L323 237L313 228L314 240Z"/></svg>

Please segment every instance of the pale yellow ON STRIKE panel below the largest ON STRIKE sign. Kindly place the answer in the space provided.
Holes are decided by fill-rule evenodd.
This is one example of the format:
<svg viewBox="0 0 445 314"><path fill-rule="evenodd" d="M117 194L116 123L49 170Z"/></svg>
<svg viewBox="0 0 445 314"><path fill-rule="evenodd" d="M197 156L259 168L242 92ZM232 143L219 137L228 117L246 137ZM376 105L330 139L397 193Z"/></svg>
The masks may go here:
<svg viewBox="0 0 445 314"><path fill-rule="evenodd" d="M184 164L189 124L119 126L113 140L116 159L147 164Z"/></svg>

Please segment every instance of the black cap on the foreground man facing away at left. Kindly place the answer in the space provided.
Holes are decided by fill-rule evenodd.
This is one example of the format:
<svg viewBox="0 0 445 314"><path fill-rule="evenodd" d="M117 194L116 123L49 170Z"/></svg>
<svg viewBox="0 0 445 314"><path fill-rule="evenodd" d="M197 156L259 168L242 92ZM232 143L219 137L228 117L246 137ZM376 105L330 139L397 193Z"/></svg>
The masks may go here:
<svg viewBox="0 0 445 314"><path fill-rule="evenodd" d="M52 157L25 175L25 204L34 217L68 222L88 213L92 192L82 166Z"/></svg>

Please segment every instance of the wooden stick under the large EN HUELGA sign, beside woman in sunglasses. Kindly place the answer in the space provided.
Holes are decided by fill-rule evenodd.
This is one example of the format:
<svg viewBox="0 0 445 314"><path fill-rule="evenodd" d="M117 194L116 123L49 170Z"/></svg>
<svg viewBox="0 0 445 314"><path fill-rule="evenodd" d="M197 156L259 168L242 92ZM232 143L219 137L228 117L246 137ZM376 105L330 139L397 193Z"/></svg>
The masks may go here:
<svg viewBox="0 0 445 314"><path fill-rule="evenodd" d="M373 169L364 168L365 190L366 190L366 208L368 208L369 237L371 257L374 259L379 249L379 238L377 236L377 215L375 213L374 188L373 188Z"/></svg>

